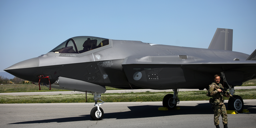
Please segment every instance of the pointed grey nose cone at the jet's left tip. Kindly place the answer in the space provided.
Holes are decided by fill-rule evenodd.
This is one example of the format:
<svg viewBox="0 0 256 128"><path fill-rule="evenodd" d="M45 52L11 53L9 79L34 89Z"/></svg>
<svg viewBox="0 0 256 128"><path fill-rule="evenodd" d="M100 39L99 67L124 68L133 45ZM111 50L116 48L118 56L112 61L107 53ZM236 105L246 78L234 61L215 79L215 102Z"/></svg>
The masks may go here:
<svg viewBox="0 0 256 128"><path fill-rule="evenodd" d="M32 58L18 62L6 68L4 71L24 80L32 81L34 73L37 72L39 66L39 58Z"/></svg>

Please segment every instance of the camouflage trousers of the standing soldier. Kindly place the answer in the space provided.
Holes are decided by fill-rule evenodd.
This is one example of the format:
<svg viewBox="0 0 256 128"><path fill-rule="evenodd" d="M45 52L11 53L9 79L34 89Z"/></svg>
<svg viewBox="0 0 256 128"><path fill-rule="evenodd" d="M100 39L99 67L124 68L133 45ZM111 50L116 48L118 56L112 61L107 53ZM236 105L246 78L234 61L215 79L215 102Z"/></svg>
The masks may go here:
<svg viewBox="0 0 256 128"><path fill-rule="evenodd" d="M223 125L228 124L228 114L226 110L226 106L223 105L216 105L214 106L214 125L219 125L219 117L222 116L222 123Z"/></svg>

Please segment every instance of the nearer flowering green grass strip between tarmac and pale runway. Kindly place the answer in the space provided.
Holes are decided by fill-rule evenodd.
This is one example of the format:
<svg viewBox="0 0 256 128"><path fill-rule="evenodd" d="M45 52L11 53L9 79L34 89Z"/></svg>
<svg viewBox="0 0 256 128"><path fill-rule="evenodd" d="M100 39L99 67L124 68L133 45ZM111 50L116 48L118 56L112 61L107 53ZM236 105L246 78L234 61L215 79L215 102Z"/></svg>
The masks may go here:
<svg viewBox="0 0 256 128"><path fill-rule="evenodd" d="M180 101L209 100L206 96L207 91L185 91L179 92ZM166 94L173 92L131 92L131 93L114 93L102 94L104 102L152 102L162 101ZM235 95L242 99L256 99L256 89L236 90ZM86 102L85 94L68 94L68 95L32 95L32 96L0 96L0 104L14 103L78 103ZM228 98L224 98L228 100ZM94 102L93 95L87 95L88 102Z"/></svg>

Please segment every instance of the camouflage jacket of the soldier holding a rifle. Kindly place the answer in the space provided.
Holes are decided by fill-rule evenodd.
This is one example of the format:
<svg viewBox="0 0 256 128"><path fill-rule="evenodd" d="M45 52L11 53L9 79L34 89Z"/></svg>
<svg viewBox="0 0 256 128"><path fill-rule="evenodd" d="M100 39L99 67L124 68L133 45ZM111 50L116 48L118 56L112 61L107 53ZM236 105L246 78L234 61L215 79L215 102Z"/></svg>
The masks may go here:
<svg viewBox="0 0 256 128"><path fill-rule="evenodd" d="M216 84L215 82L213 82L210 86L209 86L209 92L210 95L212 96L213 100L214 100L214 104L219 104L222 105L224 104L224 100L223 100L223 95L221 94L221 92L218 92L217 89L219 88L223 88L222 84Z"/></svg>

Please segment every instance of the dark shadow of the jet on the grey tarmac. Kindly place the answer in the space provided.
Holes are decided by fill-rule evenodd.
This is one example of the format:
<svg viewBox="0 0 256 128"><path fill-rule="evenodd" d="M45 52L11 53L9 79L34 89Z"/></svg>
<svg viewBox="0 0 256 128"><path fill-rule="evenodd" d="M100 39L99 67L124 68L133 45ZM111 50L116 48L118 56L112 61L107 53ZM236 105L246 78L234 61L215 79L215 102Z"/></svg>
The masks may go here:
<svg viewBox="0 0 256 128"><path fill-rule="evenodd" d="M227 105L227 103L225 103ZM144 105L144 106L128 106L130 111L127 112L113 112L104 114L105 119L116 118L129 119L129 118L150 118L160 116L175 116L181 114L214 114L209 103L202 103L196 106L180 106L180 110L159 111L158 108L162 106ZM251 114L256 114L256 106L245 105L249 108ZM56 118L48 120L34 120L25 122L16 122L10 124L35 124L35 123L50 123L50 122L76 122L83 120L92 120L90 115L80 115L77 117Z"/></svg>

